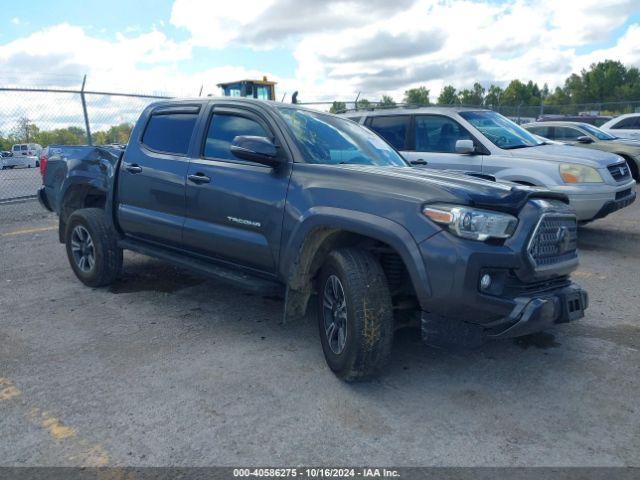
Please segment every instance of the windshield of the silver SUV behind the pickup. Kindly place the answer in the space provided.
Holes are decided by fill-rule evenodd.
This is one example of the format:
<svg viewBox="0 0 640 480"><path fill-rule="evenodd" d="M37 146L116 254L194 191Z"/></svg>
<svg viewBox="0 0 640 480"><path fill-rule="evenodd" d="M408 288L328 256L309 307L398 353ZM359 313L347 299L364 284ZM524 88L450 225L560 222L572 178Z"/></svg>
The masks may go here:
<svg viewBox="0 0 640 480"><path fill-rule="evenodd" d="M460 112L460 116L505 150L544 145L533 134L496 112Z"/></svg>

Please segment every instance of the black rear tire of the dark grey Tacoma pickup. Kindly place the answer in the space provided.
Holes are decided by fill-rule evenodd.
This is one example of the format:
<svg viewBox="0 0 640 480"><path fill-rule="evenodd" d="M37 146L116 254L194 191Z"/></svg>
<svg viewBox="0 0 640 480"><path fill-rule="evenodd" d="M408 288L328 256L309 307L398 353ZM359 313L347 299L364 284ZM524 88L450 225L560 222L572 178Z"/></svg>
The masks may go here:
<svg viewBox="0 0 640 480"><path fill-rule="evenodd" d="M84 227L93 241L94 258L92 268L83 271L72 252L74 229ZM117 235L105 218L104 210L83 208L76 210L67 220L65 230L67 257L76 277L89 287L104 287L113 283L122 270L122 249L118 247Z"/></svg>

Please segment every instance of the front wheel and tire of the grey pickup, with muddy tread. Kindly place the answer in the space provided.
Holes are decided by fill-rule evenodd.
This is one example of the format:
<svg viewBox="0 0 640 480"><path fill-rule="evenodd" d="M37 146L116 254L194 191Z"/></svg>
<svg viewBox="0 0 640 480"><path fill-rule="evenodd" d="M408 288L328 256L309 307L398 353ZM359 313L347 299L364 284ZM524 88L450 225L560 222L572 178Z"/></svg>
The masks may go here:
<svg viewBox="0 0 640 480"><path fill-rule="evenodd" d="M329 254L317 279L318 327L329 368L345 381L376 375L388 362L393 310L380 263L365 250Z"/></svg>

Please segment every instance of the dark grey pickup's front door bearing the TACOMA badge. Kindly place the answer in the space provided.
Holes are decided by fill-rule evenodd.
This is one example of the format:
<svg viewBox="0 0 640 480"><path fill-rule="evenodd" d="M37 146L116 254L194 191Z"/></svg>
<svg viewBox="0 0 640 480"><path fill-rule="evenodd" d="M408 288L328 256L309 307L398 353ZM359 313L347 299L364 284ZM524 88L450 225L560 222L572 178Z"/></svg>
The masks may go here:
<svg viewBox="0 0 640 480"><path fill-rule="evenodd" d="M277 168L231 153L238 135L268 137L283 145L268 119L249 107L210 107L200 155L187 180L185 248L217 260L275 273L291 166ZM279 155L286 157L283 148Z"/></svg>

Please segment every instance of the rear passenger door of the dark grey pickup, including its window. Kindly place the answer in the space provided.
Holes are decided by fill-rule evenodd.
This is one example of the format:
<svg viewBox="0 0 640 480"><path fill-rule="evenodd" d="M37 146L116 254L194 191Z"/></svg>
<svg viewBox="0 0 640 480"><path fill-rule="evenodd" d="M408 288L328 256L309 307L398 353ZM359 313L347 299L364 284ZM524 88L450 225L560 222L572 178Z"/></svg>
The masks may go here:
<svg viewBox="0 0 640 480"><path fill-rule="evenodd" d="M200 106L158 107L131 138L118 177L118 222L128 235L180 247L189 146Z"/></svg>

